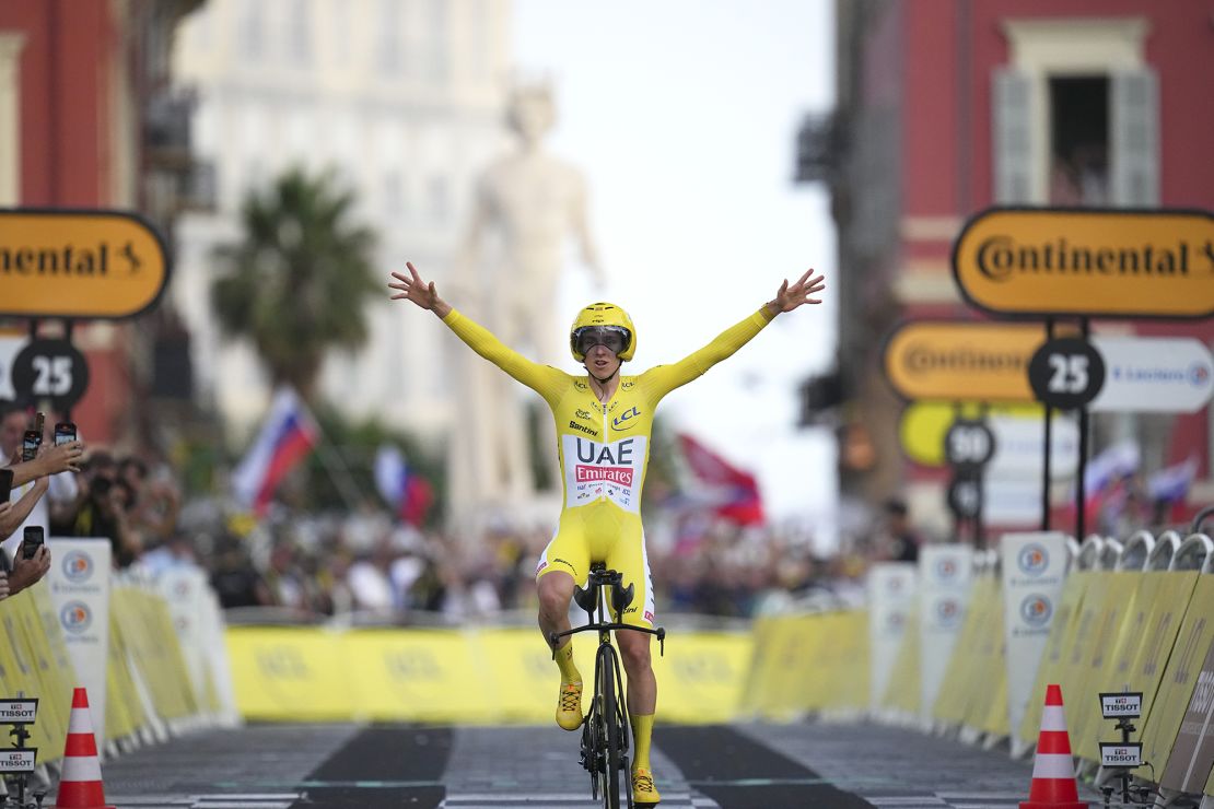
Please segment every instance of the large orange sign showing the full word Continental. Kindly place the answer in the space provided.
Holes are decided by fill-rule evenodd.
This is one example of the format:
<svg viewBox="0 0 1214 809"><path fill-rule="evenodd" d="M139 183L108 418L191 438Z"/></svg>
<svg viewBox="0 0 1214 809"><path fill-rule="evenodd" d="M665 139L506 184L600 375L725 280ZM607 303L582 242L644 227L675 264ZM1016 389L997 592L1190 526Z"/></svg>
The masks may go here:
<svg viewBox="0 0 1214 809"><path fill-rule="evenodd" d="M1208 318L1214 215L989 209L953 244L953 277L969 303L999 314Z"/></svg>

